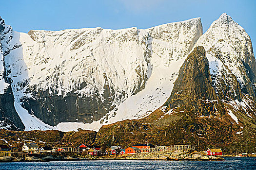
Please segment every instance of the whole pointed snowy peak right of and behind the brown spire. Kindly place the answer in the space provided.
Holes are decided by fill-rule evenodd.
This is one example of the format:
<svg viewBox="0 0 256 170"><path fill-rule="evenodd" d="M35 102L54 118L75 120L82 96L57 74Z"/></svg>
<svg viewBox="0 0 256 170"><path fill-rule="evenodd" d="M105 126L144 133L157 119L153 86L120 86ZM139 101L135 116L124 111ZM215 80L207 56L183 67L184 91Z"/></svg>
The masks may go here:
<svg viewBox="0 0 256 170"><path fill-rule="evenodd" d="M218 97L223 102L229 101L236 109L241 106L245 112L252 105L249 109L256 114L252 101L256 99L256 62L246 31L224 13L200 36L196 46L206 50Z"/></svg>

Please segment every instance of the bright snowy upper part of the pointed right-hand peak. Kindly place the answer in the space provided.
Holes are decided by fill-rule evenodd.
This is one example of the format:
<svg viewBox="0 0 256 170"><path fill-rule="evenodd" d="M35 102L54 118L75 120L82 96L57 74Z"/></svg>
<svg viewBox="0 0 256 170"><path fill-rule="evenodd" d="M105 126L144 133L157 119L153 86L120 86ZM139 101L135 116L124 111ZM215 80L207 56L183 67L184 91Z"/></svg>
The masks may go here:
<svg viewBox="0 0 256 170"><path fill-rule="evenodd" d="M211 74L218 73L227 66L243 85L246 81L242 61L255 67L254 53L249 35L226 13L212 23L210 28L197 41L207 51ZM218 68L216 70L216 68Z"/></svg>

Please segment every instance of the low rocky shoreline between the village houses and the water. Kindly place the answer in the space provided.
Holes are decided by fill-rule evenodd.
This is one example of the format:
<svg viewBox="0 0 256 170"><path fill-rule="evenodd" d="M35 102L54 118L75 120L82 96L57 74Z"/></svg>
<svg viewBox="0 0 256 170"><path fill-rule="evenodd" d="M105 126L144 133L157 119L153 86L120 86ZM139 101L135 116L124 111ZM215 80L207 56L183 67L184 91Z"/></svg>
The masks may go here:
<svg viewBox="0 0 256 170"><path fill-rule="evenodd" d="M140 153L129 155L107 155L107 156L92 156L85 155L81 157L61 156L61 155L40 155L27 156L25 158L4 156L0 157L0 162L47 162L47 161L79 161L79 160L190 160L190 161L221 161L221 157L207 156L204 153L177 153L177 152L158 152L158 153Z"/></svg>

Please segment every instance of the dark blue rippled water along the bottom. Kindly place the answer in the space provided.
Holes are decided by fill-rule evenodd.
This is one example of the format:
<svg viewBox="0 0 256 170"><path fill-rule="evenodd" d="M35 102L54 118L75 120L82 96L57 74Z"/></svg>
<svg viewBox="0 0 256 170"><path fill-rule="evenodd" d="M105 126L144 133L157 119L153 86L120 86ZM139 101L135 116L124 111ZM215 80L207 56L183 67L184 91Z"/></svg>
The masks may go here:
<svg viewBox="0 0 256 170"><path fill-rule="evenodd" d="M256 170L256 158L225 161L53 161L0 163L0 170Z"/></svg>

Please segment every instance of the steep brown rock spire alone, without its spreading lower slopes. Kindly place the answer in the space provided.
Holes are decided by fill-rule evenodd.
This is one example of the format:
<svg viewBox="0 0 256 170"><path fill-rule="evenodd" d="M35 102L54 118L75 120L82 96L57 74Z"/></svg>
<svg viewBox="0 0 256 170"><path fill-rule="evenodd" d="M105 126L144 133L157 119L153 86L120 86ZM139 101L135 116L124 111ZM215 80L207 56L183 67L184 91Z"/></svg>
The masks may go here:
<svg viewBox="0 0 256 170"><path fill-rule="evenodd" d="M177 108L208 116L223 113L218 97L212 87L209 63L203 47L196 47L179 70L169 99L164 103L166 111Z"/></svg>

